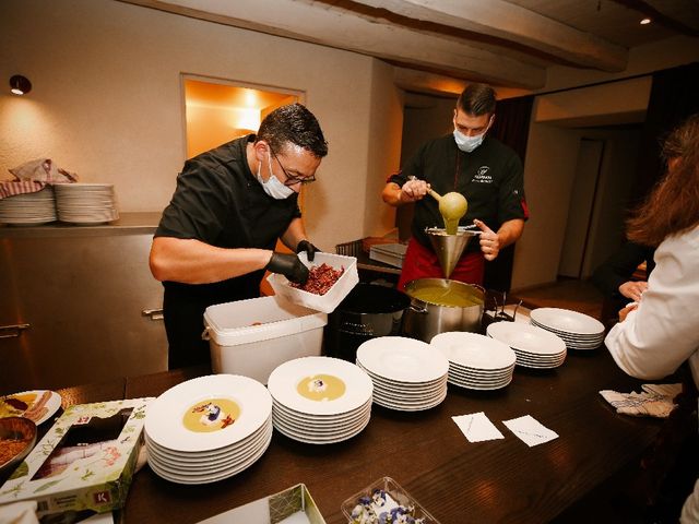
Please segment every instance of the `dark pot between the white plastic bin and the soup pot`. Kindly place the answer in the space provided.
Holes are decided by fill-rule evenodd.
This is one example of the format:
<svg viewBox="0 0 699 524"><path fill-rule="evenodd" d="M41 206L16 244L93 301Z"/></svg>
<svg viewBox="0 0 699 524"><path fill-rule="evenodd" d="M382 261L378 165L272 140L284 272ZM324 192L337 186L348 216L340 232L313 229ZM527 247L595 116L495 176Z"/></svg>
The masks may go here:
<svg viewBox="0 0 699 524"><path fill-rule="evenodd" d="M325 353L354 362L364 342L401 333L410 303L398 289L357 284L328 318Z"/></svg>

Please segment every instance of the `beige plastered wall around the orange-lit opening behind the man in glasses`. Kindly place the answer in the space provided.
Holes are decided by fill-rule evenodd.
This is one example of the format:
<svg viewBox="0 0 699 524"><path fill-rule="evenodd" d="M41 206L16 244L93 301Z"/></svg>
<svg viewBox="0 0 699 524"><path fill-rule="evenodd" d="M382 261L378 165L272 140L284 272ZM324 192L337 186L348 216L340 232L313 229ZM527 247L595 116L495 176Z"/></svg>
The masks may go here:
<svg viewBox="0 0 699 524"><path fill-rule="evenodd" d="M46 156L115 183L121 211L161 211L186 155L180 73L298 90L330 144L306 201L307 229L330 249L368 234L357 219L367 174L398 163L400 127L372 134L400 118L395 103L372 111L394 90L376 62L110 0L3 0L0 78L24 74L34 88L0 94L0 179Z"/></svg>

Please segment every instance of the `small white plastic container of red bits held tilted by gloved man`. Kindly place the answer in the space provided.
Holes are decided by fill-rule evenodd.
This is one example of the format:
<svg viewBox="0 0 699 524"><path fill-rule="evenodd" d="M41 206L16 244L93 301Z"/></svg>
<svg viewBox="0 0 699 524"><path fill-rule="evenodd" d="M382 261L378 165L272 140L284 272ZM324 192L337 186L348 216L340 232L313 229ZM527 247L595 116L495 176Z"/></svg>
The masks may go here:
<svg viewBox="0 0 699 524"><path fill-rule="evenodd" d="M272 273L266 279L272 286L272 289L274 289L274 293L285 300L309 309L315 309L316 311L322 311L323 313L332 313L340 302L342 302L342 299L359 283L357 259L354 257L319 251L316 253L313 261L309 262L306 252L301 251L298 258L308 267L325 263L335 270L344 267L344 273L324 295L316 295L315 293L296 289L288 285L288 279L284 275Z"/></svg>

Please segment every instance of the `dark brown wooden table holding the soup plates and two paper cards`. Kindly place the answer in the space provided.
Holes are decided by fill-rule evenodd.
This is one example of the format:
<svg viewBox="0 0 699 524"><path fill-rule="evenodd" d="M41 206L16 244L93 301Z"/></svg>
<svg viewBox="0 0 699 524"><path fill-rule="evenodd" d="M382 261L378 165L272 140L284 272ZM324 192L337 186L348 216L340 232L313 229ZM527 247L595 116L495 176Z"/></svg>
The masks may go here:
<svg viewBox="0 0 699 524"><path fill-rule="evenodd" d="M197 377L183 370L61 390L68 403L158 395ZM369 426L350 441L304 444L275 432L264 455L239 475L180 486L144 467L134 477L126 523L196 523L305 483L328 523L345 523L342 502L390 476L442 524L548 522L613 474L637 461L661 422L617 415L597 393L640 391L604 348L574 352L557 370L516 368L502 391L450 385L447 400L424 413L372 407ZM503 440L470 443L451 420L485 412ZM529 448L502 420L532 415L559 438Z"/></svg>

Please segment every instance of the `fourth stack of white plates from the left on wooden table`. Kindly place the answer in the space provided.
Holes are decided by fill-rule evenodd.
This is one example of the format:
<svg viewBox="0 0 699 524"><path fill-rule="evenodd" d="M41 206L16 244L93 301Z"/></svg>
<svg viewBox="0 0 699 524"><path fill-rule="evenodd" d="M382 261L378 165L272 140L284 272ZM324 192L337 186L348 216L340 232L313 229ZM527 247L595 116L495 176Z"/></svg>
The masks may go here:
<svg viewBox="0 0 699 524"><path fill-rule="evenodd" d="M517 355L507 344L478 333L452 331L430 344L449 360L449 383L471 390L498 390L512 381Z"/></svg>

